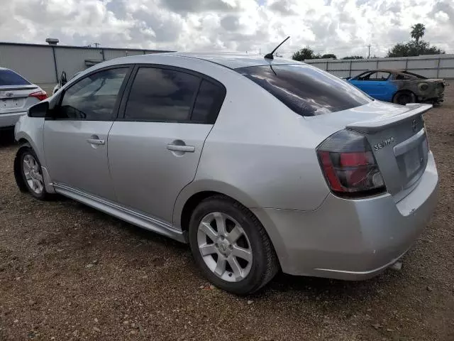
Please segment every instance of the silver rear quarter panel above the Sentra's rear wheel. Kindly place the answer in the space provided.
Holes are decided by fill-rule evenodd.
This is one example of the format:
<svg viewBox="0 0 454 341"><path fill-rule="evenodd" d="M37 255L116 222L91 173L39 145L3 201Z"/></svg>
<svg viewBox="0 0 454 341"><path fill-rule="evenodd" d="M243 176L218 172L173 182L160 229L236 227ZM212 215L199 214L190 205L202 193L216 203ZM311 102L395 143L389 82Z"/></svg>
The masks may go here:
<svg viewBox="0 0 454 341"><path fill-rule="evenodd" d="M226 99L196 177L177 199L174 223L184 202L204 190L230 195L246 207L315 210L321 205L328 187L315 148L326 134L311 131L306 119L236 71L201 72L226 86Z"/></svg>

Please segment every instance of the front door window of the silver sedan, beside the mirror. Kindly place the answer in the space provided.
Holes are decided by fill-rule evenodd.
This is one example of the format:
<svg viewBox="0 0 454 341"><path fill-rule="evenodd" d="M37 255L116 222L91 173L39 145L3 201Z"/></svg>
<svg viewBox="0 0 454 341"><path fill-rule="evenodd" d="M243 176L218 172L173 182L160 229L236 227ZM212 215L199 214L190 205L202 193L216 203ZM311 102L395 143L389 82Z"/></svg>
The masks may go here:
<svg viewBox="0 0 454 341"><path fill-rule="evenodd" d="M115 103L128 67L96 72L72 85L63 95L60 119L112 120Z"/></svg>

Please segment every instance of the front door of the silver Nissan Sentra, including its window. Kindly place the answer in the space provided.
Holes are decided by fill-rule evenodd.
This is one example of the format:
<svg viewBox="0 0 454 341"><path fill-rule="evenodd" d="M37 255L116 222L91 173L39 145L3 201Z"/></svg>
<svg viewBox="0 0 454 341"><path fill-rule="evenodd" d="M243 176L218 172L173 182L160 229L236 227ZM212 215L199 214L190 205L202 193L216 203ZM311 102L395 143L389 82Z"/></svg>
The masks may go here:
<svg viewBox="0 0 454 341"><path fill-rule="evenodd" d="M107 160L109 130L132 66L93 72L68 87L44 124L48 172L58 187L115 200Z"/></svg>

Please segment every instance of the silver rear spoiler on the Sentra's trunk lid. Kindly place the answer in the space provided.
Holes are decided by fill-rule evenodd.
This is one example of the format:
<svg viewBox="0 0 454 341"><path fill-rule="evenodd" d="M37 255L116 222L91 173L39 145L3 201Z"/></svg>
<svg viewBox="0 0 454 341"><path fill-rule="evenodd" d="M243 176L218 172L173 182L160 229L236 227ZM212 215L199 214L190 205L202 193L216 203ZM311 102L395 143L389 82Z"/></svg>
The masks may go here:
<svg viewBox="0 0 454 341"><path fill-rule="evenodd" d="M411 117L419 116L424 112L427 112L433 106L432 104L406 104L406 107L409 108L406 112L402 112L402 114L397 114L391 117L380 118L377 117L376 119L371 119L369 121L358 121L348 124L346 127L347 129L355 130L355 131L362 131L364 133L376 133L377 131L381 131L387 129L389 126L393 126L399 121L404 119L411 119Z"/></svg>

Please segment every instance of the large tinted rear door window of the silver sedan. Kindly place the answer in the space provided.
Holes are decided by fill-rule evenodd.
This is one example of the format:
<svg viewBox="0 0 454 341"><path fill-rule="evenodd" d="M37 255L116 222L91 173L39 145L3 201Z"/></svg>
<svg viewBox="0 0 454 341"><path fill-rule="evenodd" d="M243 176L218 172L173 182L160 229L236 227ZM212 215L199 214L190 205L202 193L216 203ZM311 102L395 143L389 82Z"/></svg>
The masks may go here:
<svg viewBox="0 0 454 341"><path fill-rule="evenodd" d="M186 72L140 67L126 104L125 119L188 121L200 77Z"/></svg>

